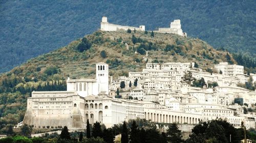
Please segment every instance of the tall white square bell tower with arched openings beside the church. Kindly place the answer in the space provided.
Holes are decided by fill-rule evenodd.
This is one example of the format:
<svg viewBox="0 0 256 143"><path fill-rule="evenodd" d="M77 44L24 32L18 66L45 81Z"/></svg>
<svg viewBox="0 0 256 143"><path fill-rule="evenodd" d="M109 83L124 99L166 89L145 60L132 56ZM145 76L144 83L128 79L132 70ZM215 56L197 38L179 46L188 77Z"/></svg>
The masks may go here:
<svg viewBox="0 0 256 143"><path fill-rule="evenodd" d="M109 95L109 65L106 63L96 64L96 79L99 84L99 93Z"/></svg>

